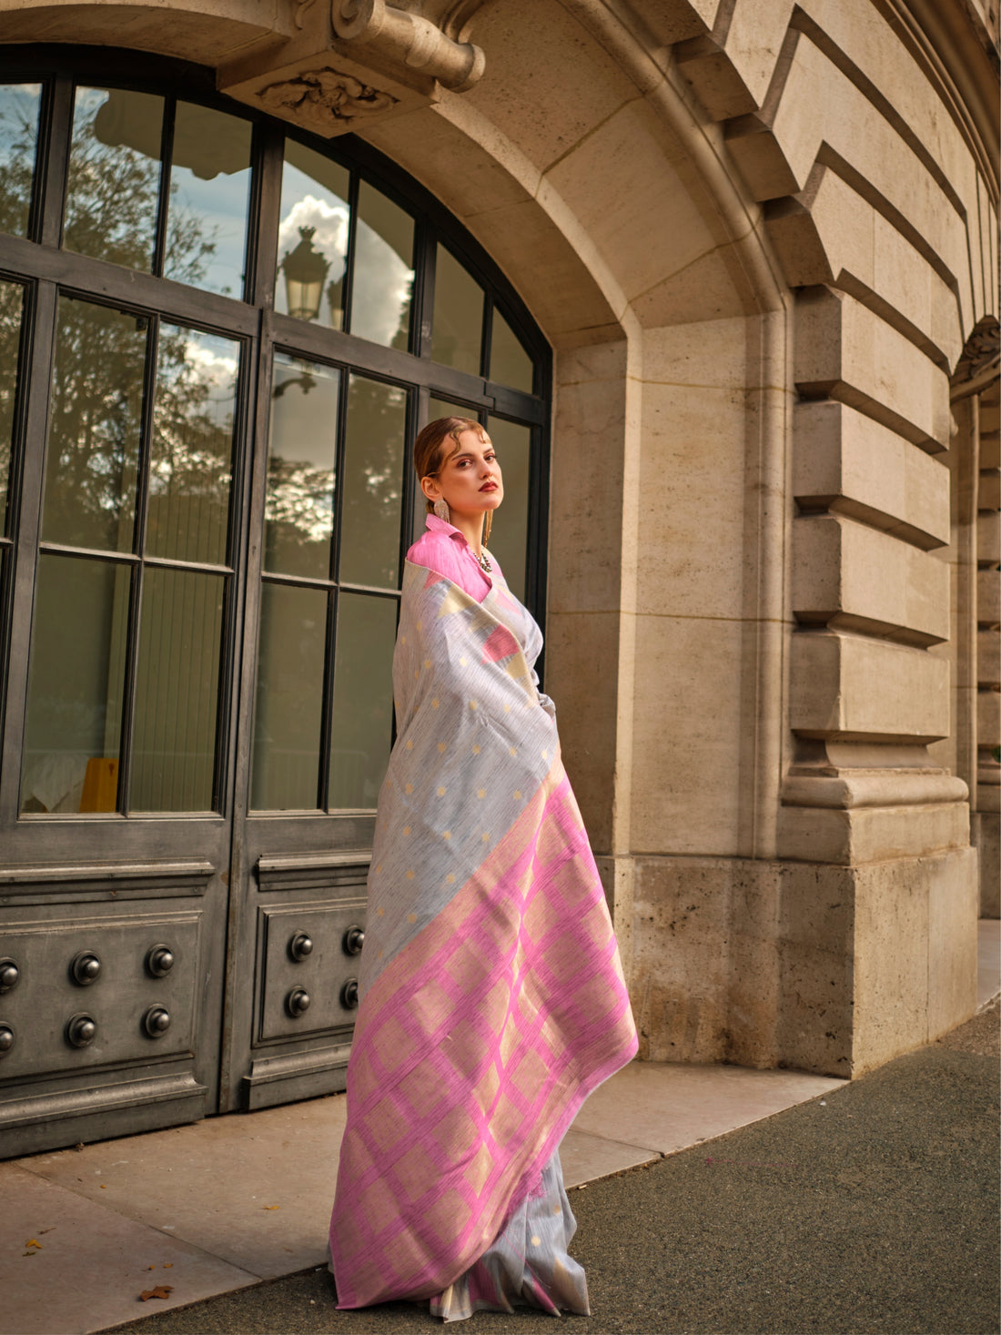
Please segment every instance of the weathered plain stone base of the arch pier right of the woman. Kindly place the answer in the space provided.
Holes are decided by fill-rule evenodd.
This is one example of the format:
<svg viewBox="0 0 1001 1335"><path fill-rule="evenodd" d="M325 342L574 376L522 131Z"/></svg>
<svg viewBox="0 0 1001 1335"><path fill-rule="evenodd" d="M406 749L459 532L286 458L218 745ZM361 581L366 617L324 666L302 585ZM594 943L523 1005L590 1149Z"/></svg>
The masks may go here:
<svg viewBox="0 0 1001 1335"><path fill-rule="evenodd" d="M857 1076L977 1005L977 852L634 860L639 1055Z"/></svg>

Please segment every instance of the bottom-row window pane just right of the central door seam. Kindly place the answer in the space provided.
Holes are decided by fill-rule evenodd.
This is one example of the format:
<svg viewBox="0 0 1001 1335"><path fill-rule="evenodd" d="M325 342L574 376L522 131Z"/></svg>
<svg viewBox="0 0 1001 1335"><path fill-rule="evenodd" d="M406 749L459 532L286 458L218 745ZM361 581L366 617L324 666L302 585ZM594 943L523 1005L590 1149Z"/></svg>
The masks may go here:
<svg viewBox="0 0 1001 1335"><path fill-rule="evenodd" d="M320 777L327 593L260 590L251 806L315 810Z"/></svg>

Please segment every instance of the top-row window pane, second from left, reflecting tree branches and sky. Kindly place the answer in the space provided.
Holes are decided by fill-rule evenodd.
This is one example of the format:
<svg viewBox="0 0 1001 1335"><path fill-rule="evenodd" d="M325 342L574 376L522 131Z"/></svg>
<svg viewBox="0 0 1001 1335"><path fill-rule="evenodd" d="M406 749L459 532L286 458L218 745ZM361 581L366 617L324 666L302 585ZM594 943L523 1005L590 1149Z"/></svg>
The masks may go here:
<svg viewBox="0 0 1001 1335"><path fill-rule="evenodd" d="M163 97L77 88L63 244L128 268L152 268L160 195Z"/></svg>

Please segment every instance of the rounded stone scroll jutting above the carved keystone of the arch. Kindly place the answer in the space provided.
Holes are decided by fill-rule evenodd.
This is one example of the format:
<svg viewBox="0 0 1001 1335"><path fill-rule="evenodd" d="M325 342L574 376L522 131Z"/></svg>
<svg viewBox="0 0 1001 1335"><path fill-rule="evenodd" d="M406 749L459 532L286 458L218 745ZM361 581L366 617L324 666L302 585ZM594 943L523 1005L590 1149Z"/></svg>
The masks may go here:
<svg viewBox="0 0 1001 1335"><path fill-rule="evenodd" d="M452 92L464 92L483 75L479 47L454 41L430 19L386 0L331 0L330 15L340 41L368 48L382 65L419 71Z"/></svg>

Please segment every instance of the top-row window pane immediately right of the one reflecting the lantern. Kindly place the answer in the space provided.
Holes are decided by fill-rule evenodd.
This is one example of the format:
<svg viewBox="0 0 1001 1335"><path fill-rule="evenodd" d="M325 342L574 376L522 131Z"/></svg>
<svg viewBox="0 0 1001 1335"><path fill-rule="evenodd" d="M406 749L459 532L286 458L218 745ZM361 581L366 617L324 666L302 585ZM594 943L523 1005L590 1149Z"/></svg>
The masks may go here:
<svg viewBox="0 0 1001 1335"><path fill-rule="evenodd" d="M358 188L351 332L406 348L412 287L414 219L363 180Z"/></svg>

